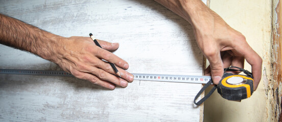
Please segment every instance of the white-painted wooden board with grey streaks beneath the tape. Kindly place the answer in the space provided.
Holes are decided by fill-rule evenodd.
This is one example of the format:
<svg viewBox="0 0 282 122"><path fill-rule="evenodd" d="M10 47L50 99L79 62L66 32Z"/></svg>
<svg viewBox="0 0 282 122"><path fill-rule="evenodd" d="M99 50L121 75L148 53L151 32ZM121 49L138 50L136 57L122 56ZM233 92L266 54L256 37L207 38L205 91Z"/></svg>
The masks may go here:
<svg viewBox="0 0 282 122"><path fill-rule="evenodd" d="M154 1L0 1L0 12L51 33L119 42L131 73L202 75L191 25ZM0 45L1 69L60 70ZM107 90L72 77L0 74L0 121L202 121L201 84L133 81Z"/></svg>

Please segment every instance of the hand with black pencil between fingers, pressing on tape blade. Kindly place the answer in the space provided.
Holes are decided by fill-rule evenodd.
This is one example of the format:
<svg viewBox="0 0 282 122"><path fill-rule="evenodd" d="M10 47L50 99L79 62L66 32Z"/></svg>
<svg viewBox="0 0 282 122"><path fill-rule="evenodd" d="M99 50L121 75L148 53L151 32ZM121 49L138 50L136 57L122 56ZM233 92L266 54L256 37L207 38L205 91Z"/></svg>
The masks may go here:
<svg viewBox="0 0 282 122"><path fill-rule="evenodd" d="M125 60L109 51L119 48L118 43L97 40L102 48L95 45L90 37L62 38L57 45L55 57L52 59L64 71L75 77L88 80L103 87L114 89L115 85L126 87L133 81L133 75L125 71L129 65ZM113 74L113 63L121 74L121 78Z"/></svg>

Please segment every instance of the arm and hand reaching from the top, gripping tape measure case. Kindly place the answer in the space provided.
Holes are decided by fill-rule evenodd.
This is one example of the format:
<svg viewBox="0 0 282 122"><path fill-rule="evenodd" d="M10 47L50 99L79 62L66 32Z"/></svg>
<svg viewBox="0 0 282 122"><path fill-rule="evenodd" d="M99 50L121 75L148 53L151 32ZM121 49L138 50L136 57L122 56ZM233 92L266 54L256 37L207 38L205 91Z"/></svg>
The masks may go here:
<svg viewBox="0 0 282 122"><path fill-rule="evenodd" d="M244 68L244 59L246 59L252 66L254 89L257 88L262 75L262 58L248 45L240 32L231 28L200 0L155 1L193 26L197 44L210 63L205 74L212 75L215 84L221 79L223 68L229 66Z"/></svg>

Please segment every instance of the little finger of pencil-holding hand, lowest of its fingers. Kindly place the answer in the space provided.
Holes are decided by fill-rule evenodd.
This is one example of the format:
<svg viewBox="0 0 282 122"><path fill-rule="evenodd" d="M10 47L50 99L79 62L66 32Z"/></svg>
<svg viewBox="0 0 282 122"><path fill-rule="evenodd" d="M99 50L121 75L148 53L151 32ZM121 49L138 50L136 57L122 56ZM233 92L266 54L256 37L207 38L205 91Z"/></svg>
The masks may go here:
<svg viewBox="0 0 282 122"><path fill-rule="evenodd" d="M112 89L112 90L115 88L114 84L112 84L110 82L102 81L101 79L99 79L98 77L96 77L92 74L79 72L79 71L72 71L72 74L79 79L84 79L84 80L90 81L94 84L98 84L98 85L105 87L105 88L109 88L109 89Z"/></svg>

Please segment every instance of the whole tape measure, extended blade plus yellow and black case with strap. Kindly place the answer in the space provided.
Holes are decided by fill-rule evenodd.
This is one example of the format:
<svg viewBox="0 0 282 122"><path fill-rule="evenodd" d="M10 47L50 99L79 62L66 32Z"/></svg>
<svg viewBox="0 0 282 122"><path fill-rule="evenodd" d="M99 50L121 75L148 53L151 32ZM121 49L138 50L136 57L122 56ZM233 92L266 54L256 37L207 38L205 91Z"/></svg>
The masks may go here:
<svg viewBox="0 0 282 122"><path fill-rule="evenodd" d="M231 68L237 68L234 70ZM227 100L242 100L249 98L253 93L253 79L252 74L244 69L238 67L229 67L226 71L243 71L245 75L233 75L225 73L218 85L215 85L212 90L199 102L196 99L204 92L204 90L212 84L210 76L195 76L195 75L165 75L165 74L141 74L133 73L134 80L145 81L162 81L162 82L182 82L182 83L204 83L200 92L196 95L194 103L196 105L202 104L210 95L213 94L216 88L218 93ZM19 75L45 75L45 76L73 76L64 71L44 71L44 70L10 70L0 69L0 74L19 74Z"/></svg>

